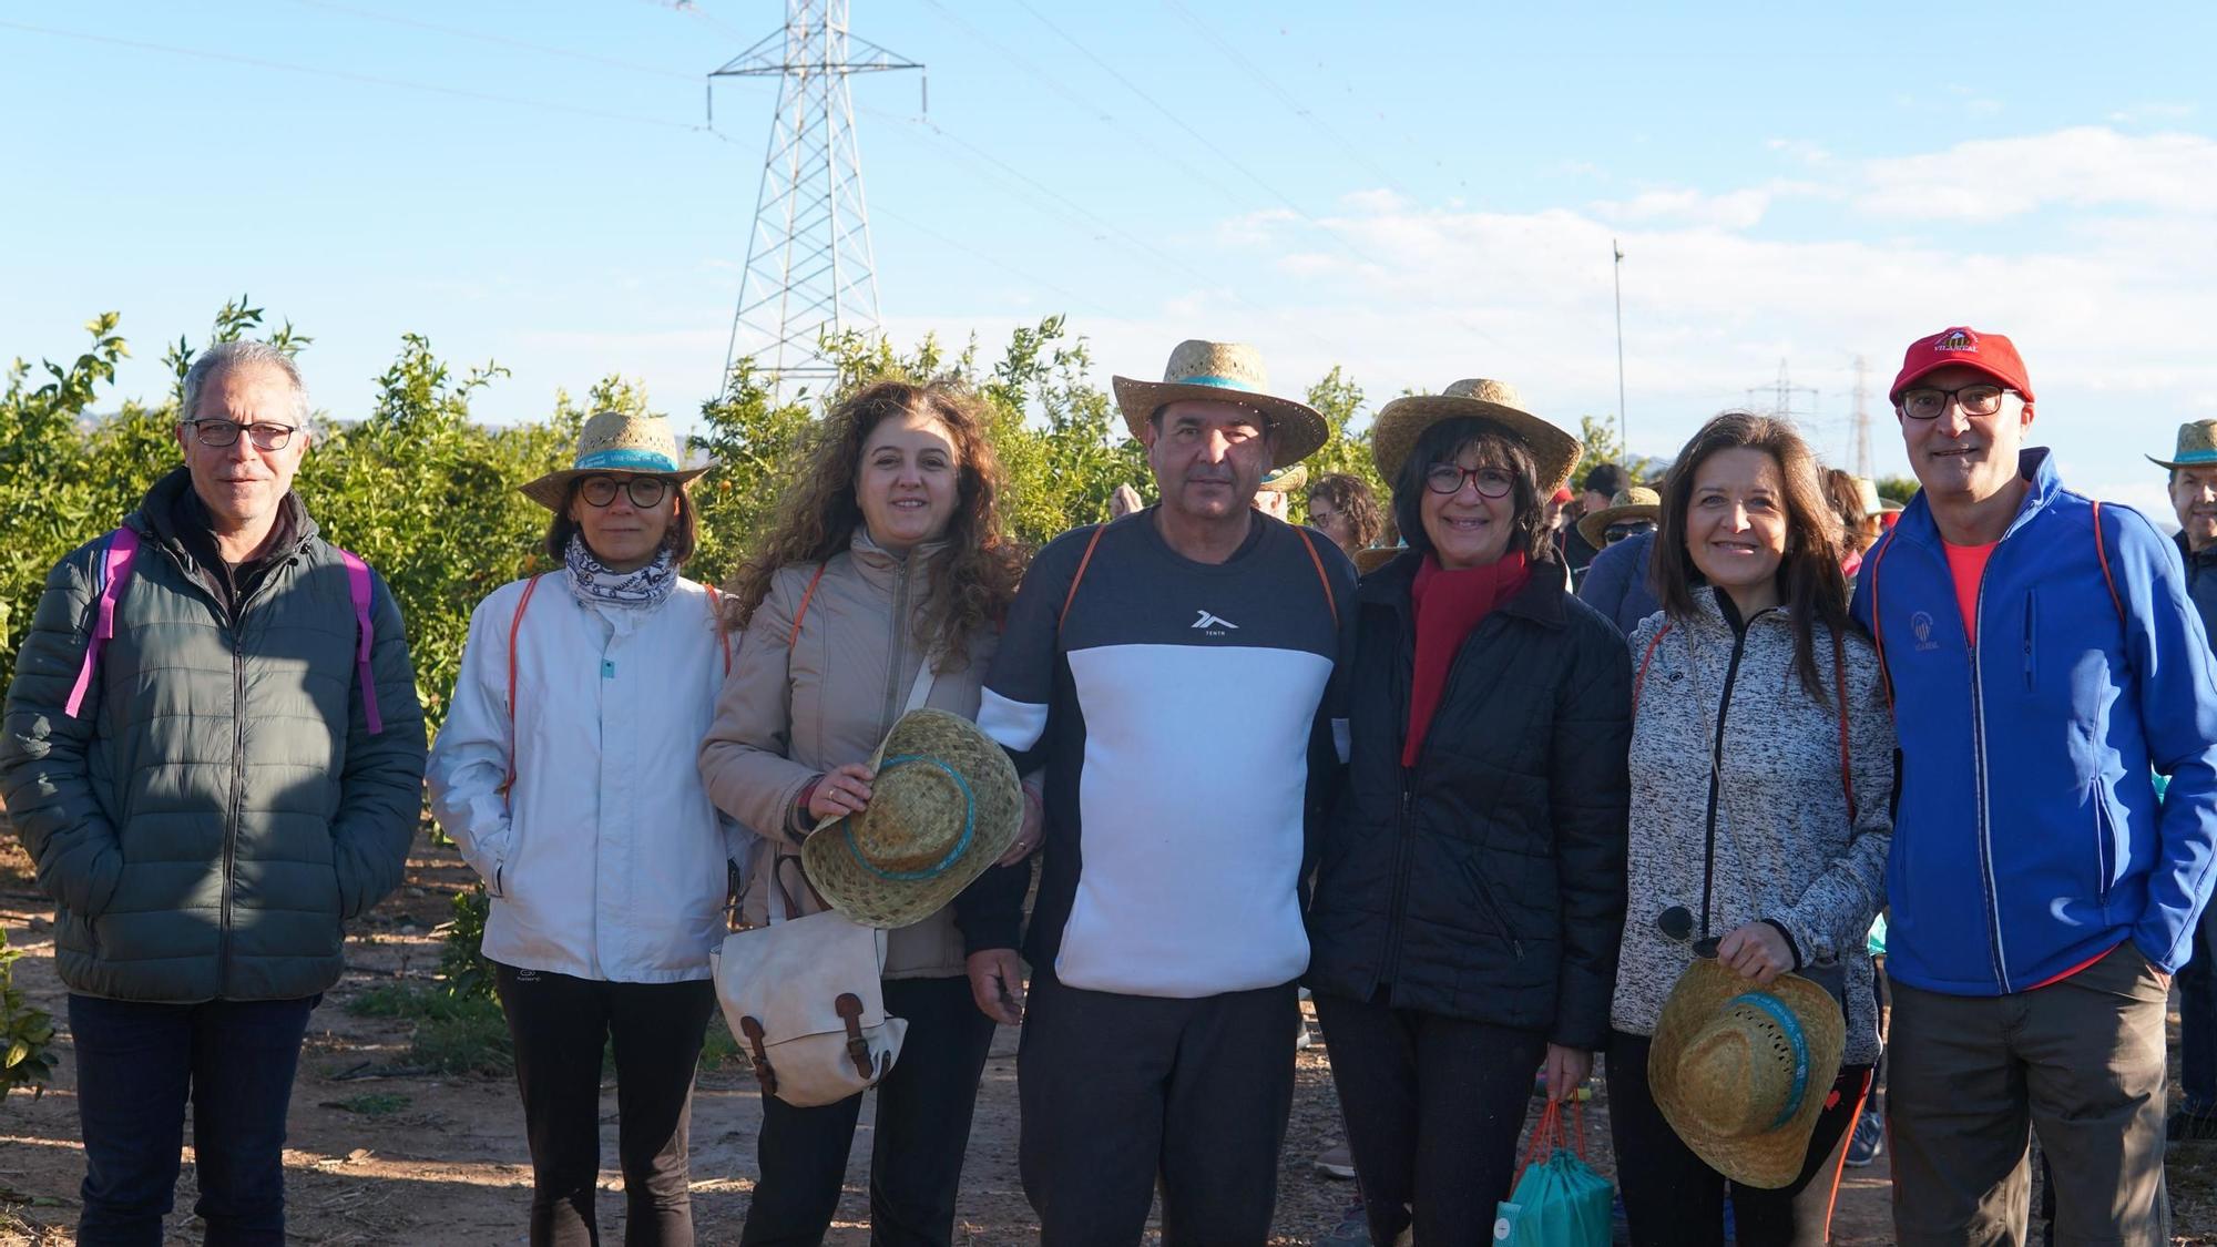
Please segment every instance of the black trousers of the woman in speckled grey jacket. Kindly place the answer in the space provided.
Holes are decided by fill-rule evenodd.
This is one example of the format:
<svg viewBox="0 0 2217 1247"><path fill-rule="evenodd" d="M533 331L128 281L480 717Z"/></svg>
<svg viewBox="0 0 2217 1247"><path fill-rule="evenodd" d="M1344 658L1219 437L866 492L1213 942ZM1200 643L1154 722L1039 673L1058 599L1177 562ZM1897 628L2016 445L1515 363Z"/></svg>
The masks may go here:
<svg viewBox="0 0 2217 1247"><path fill-rule="evenodd" d="M1794 1198L1811 1183L1840 1178L1825 1172L1840 1136L1856 1125L1871 1085L1869 1065L1842 1065L1825 1096L1825 1112L1809 1136L1809 1156L1791 1187L1774 1192L1731 1185L1703 1163L1663 1118L1647 1089L1645 1034L1610 1034L1610 1136L1616 1143L1616 1189L1634 1247L1718 1247L1725 1240L1725 1194L1731 1192L1734 1240L1740 1247L1794 1243Z"/></svg>

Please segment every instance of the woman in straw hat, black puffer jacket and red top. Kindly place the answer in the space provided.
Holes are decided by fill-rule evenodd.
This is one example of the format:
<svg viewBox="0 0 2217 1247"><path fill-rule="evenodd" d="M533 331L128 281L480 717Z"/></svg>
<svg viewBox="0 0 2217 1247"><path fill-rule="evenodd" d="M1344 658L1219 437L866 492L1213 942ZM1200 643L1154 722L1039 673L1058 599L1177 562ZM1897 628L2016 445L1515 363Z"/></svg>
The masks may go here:
<svg viewBox="0 0 2217 1247"><path fill-rule="evenodd" d="M1408 550L1357 595L1306 981L1372 1238L1477 1245L1532 1072L1563 1098L1610 1034L1632 661L1541 528L1576 439L1457 382L1388 404L1372 453Z"/></svg>

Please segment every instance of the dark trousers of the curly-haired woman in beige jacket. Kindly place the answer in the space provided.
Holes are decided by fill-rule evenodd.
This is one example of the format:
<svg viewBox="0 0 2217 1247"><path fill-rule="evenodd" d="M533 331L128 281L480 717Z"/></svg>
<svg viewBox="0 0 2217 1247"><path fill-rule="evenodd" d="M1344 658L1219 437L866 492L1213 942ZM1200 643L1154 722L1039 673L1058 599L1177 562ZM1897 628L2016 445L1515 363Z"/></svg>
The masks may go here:
<svg viewBox="0 0 2217 1247"><path fill-rule="evenodd" d="M887 979L885 1012L907 1018L893 1072L878 1083L869 1147L869 1240L878 1247L947 1247L969 1149L978 1078L993 1047L993 1018L978 1012L969 979ZM796 1109L763 1096L756 1156L763 1180L747 1205L743 1247L823 1243L847 1180L847 1152L862 1096Z"/></svg>

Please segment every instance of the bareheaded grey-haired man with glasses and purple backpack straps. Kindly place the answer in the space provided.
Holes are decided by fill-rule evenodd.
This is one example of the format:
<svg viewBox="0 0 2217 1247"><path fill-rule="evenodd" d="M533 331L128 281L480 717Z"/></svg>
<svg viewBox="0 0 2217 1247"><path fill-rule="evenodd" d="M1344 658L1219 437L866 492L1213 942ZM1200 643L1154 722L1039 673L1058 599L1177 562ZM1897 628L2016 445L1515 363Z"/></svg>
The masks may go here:
<svg viewBox="0 0 2217 1247"><path fill-rule="evenodd" d="M184 466L53 568L16 655L0 788L55 901L80 1243L162 1238L186 1101L208 1240L284 1236L308 1012L415 837L401 612L293 495L310 439L282 351L195 359Z"/></svg>

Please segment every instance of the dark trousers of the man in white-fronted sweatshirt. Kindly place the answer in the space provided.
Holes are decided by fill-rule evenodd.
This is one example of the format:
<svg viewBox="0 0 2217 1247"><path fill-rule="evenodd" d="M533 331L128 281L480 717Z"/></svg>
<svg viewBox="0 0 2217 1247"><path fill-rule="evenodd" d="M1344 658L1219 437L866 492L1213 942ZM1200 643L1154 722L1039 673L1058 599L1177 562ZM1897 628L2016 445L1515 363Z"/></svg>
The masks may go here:
<svg viewBox="0 0 2217 1247"><path fill-rule="evenodd" d="M1266 1243L1299 1021L1293 983L1171 1001L1038 974L1018 1167L1040 1243L1140 1243L1157 1180L1164 1247Z"/></svg>

